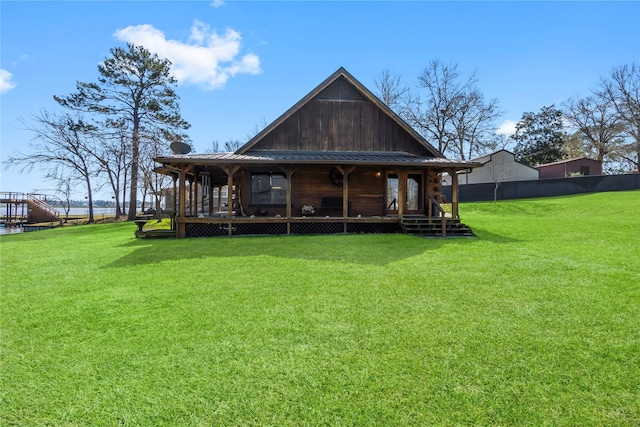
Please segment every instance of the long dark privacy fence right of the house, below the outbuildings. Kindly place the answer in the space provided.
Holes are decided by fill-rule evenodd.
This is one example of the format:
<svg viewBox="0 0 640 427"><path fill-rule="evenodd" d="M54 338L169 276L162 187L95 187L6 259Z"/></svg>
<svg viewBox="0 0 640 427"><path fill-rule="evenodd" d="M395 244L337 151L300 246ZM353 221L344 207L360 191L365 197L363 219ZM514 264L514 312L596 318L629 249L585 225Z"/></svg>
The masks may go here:
<svg viewBox="0 0 640 427"><path fill-rule="evenodd" d="M495 187L495 183L460 185L459 200L461 202L493 200ZM503 182L498 186L497 199L527 199L624 190L640 190L640 174ZM442 187L442 194L447 201L450 201L451 186Z"/></svg>

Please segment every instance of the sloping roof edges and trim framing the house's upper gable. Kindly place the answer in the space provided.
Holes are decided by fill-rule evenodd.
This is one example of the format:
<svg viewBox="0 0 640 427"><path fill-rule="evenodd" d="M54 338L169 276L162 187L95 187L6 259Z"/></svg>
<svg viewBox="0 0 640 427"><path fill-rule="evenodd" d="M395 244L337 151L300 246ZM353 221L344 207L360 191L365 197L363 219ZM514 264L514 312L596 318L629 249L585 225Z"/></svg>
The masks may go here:
<svg viewBox="0 0 640 427"><path fill-rule="evenodd" d="M339 80L344 79L354 89L343 90L339 87ZM332 92L329 94L328 92ZM344 67L340 67L322 83L320 83L315 89L309 92L304 98L298 101L295 105L284 112L280 117L273 121L270 125L260 131L257 135L251 138L245 145L240 147L235 154L247 154L248 151L256 149L260 141L269 133L274 131L278 126L282 125L288 118L293 116L302 107L311 102L318 96L346 96L348 99L364 99L373 103L380 111L383 112L388 118L390 118L397 126L407 132L415 141L427 150L433 157L444 158L442 153L438 152L422 135L409 126L403 119L401 119L396 113L394 113L384 102L382 102L376 95L374 95L369 89L367 89L362 83L360 83L355 77L353 77ZM361 97L361 98L359 98Z"/></svg>

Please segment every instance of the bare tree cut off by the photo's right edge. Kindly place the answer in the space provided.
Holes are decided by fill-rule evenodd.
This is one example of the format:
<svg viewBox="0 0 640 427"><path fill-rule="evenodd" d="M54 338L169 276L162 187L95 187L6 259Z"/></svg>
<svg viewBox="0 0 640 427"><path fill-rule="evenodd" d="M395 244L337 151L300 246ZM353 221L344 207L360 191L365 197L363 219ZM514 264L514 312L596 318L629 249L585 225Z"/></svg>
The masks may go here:
<svg viewBox="0 0 640 427"><path fill-rule="evenodd" d="M640 65L615 68L608 78L600 80L597 93L613 103L624 124L629 142L622 158L640 170Z"/></svg>

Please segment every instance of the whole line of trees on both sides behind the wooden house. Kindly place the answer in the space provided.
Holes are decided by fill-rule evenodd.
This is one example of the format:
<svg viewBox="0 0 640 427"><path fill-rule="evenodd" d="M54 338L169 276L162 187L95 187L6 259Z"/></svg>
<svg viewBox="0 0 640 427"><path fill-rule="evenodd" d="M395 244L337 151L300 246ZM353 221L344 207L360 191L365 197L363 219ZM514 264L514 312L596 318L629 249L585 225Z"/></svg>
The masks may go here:
<svg viewBox="0 0 640 427"><path fill-rule="evenodd" d="M589 96L524 113L510 136L496 132L504 114L498 100L479 90L477 73L462 76L455 64L432 60L415 89L389 71L374 82L383 102L451 158L471 159L513 145L518 159L531 165L587 156L602 160L609 171L639 169L640 66L635 63L614 68ZM149 197L158 207L173 184L154 171L153 158L168 154L172 144L191 147L176 84L169 60L133 44L113 48L98 66L96 82L77 82L74 93L53 97L60 112L42 110L22 121L34 139L28 152L7 164L41 168L56 184L63 206L83 188L90 222L97 190L113 195L116 217L134 219L139 195L142 205ZM209 151L240 145L240 140L223 147L214 141Z"/></svg>

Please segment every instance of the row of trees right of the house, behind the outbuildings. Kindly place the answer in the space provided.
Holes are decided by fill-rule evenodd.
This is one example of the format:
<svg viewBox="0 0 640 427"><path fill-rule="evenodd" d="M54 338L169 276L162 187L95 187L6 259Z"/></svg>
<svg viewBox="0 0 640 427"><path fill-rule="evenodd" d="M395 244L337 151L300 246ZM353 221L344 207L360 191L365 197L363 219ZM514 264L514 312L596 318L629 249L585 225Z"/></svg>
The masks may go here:
<svg viewBox="0 0 640 427"><path fill-rule="evenodd" d="M439 60L415 89L388 70L375 79L378 96L446 156L465 160L512 146L532 166L584 156L609 172L640 168L640 65L614 68L585 97L525 112L512 135L496 133L503 112L477 83L477 73L464 77L457 64Z"/></svg>

